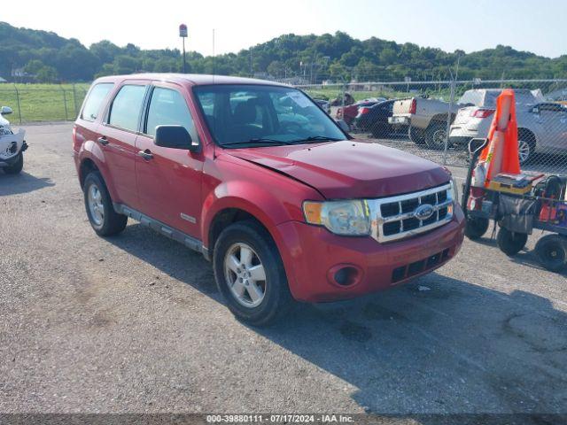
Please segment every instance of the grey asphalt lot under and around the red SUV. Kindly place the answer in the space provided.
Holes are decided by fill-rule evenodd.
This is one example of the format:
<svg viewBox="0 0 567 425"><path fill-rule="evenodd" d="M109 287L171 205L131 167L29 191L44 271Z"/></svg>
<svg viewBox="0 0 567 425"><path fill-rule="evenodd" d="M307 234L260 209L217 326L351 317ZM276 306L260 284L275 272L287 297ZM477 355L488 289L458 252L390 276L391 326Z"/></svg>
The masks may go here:
<svg viewBox="0 0 567 425"><path fill-rule="evenodd" d="M0 173L0 413L567 413L567 279L536 236L249 328L199 254L132 221L97 237L71 125L26 129Z"/></svg>

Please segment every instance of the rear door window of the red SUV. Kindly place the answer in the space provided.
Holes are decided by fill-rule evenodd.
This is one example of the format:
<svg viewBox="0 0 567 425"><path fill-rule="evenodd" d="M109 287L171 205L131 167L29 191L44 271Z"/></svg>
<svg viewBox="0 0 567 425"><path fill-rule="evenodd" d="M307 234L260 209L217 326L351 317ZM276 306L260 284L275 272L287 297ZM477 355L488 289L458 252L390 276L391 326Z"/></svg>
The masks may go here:
<svg viewBox="0 0 567 425"><path fill-rule="evenodd" d="M108 124L131 131L137 131L140 111L144 103L146 86L125 85L122 86L108 116Z"/></svg>

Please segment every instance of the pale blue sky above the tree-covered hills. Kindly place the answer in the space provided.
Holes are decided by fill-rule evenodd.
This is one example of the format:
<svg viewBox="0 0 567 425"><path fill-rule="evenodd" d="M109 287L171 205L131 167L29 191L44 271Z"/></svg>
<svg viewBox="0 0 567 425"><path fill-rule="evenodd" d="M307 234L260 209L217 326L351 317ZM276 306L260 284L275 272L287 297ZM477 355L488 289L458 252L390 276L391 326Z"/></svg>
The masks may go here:
<svg viewBox="0 0 567 425"><path fill-rule="evenodd" d="M467 52L505 44L555 58L567 54L564 0L18 0L0 20L78 38L109 39L142 48L179 47L177 27L189 26L189 49L208 55L245 49L277 35L345 31L365 39ZM12 4L15 6L15 4Z"/></svg>

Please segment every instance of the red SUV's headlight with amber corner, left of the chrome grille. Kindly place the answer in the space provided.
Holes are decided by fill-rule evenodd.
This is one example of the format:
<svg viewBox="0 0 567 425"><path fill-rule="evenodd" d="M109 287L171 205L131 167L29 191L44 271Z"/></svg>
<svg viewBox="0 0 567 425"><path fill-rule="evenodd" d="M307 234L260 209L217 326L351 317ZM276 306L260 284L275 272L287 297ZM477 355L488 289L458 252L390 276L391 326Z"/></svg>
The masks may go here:
<svg viewBox="0 0 567 425"><path fill-rule="evenodd" d="M307 223L324 226L330 232L343 236L370 234L369 206L363 200L303 203Z"/></svg>

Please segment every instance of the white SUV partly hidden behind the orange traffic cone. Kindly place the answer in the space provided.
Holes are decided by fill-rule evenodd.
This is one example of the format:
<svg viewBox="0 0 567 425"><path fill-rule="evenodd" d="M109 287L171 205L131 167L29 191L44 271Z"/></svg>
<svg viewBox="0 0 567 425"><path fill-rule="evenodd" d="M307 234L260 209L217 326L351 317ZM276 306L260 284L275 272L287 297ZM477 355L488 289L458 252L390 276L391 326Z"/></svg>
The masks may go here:
<svg viewBox="0 0 567 425"><path fill-rule="evenodd" d="M567 151L565 105L552 102L539 103L539 99L527 89L514 91L520 164L527 163L536 151L540 153ZM496 97L500 93L501 89L478 89L470 93L471 96L465 100L471 105L457 112L449 133L449 143L466 145L472 138L485 138L493 121Z"/></svg>

